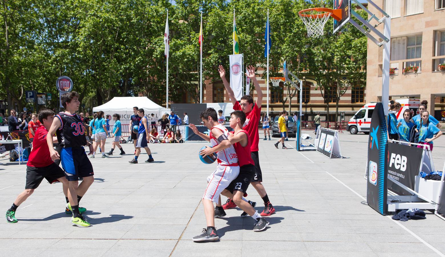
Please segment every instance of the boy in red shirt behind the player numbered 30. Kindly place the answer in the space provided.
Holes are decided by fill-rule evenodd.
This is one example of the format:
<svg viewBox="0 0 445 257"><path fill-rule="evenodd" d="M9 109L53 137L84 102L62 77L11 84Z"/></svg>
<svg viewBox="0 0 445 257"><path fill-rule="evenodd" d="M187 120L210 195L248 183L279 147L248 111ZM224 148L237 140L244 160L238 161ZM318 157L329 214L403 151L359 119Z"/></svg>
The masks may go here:
<svg viewBox="0 0 445 257"><path fill-rule="evenodd" d="M34 115L36 114L32 114L33 118ZM46 143L49 127L53 123L54 112L52 110L42 109L40 110L38 117L43 126L40 126L34 134L32 151L26 165L25 190L17 196L11 208L6 212L6 220L8 223L17 222L15 217L17 207L32 195L43 179L48 180L50 184L60 181L63 184L65 198L66 192L68 191L68 180L65 178L63 170L51 159L48 144ZM53 138L53 140L57 139ZM85 208L81 208L80 211L85 212L86 210Z"/></svg>

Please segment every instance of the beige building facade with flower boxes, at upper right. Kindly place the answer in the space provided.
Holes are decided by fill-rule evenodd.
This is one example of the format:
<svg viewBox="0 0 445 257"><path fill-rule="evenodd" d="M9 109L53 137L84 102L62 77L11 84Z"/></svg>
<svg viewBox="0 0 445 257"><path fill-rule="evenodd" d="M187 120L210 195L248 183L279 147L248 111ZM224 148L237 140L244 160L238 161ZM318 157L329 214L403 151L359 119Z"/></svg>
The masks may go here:
<svg viewBox="0 0 445 257"><path fill-rule="evenodd" d="M374 3L391 16L390 98L427 100L432 115L434 110L444 110L445 69L440 64L445 63L445 0ZM381 17L376 8L368 7ZM383 26L377 28L383 31ZM381 100L382 53L383 47L368 39L367 102Z"/></svg>

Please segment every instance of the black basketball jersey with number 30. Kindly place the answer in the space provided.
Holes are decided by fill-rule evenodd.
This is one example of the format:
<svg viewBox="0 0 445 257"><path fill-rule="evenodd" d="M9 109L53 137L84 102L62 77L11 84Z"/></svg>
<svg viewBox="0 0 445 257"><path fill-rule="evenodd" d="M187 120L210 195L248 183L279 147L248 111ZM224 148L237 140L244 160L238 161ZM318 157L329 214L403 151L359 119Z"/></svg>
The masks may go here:
<svg viewBox="0 0 445 257"><path fill-rule="evenodd" d="M61 147L83 147L86 145L85 130L79 115L61 112L54 118L60 119L62 123L56 132Z"/></svg>

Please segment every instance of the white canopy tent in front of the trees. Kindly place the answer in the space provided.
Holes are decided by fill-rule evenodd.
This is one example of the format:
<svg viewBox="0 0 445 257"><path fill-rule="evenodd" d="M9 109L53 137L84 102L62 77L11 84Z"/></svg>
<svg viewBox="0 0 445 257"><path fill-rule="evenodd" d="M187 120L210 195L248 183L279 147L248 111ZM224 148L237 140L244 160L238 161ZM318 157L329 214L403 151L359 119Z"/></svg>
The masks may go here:
<svg viewBox="0 0 445 257"><path fill-rule="evenodd" d="M117 113L121 115L120 120L122 124L129 124L130 116L133 115L134 106L144 109L146 115L153 113L157 119L159 119L163 113L168 111L146 97L114 97L101 106L93 107L93 112L103 111L105 115L113 115ZM113 119L111 119L110 125L113 124Z"/></svg>

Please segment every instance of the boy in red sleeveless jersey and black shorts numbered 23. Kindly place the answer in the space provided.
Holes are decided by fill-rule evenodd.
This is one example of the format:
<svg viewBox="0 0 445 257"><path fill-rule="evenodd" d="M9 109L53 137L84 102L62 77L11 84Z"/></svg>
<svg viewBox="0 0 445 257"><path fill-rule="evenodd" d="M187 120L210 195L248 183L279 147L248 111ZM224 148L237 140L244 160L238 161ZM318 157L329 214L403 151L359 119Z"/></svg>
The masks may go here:
<svg viewBox="0 0 445 257"><path fill-rule="evenodd" d="M239 175L232 180L231 184L227 186L221 194L223 196L230 197L233 199L235 204L241 208L244 212L241 216L250 215L255 220L255 226L253 231L261 231L266 228L269 222L266 221L262 216L255 211L254 202L247 201L243 198L243 194L246 192L251 179L255 175L254 161L251 158L251 143L247 131L242 129L242 124L246 121L246 114L243 111L235 110L232 112L230 118L230 126L234 131L229 132L229 142L235 148L236 155L238 156L239 163ZM210 155L211 153L220 151L221 146L208 147L201 151L201 155ZM226 216L223 207L221 206L221 199L219 199L219 204L216 204L215 217Z"/></svg>

